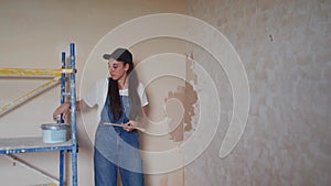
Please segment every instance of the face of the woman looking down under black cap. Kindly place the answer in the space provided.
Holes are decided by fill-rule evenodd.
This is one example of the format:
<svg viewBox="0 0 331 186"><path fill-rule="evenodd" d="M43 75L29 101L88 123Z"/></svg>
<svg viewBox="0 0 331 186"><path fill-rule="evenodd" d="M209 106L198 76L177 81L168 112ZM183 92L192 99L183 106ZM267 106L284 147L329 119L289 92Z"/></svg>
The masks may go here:
<svg viewBox="0 0 331 186"><path fill-rule="evenodd" d="M124 65L122 62L109 58L108 61L108 70L110 77L114 80L120 80L127 76L127 70L129 69L129 64Z"/></svg>

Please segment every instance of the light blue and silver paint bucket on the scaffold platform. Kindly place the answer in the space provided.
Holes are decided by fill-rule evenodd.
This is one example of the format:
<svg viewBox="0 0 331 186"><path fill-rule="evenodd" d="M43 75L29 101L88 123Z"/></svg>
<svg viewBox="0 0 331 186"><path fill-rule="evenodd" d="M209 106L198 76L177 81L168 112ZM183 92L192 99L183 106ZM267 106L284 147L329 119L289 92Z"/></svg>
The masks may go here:
<svg viewBox="0 0 331 186"><path fill-rule="evenodd" d="M42 124L43 142L44 143L61 143L68 140L68 124Z"/></svg>

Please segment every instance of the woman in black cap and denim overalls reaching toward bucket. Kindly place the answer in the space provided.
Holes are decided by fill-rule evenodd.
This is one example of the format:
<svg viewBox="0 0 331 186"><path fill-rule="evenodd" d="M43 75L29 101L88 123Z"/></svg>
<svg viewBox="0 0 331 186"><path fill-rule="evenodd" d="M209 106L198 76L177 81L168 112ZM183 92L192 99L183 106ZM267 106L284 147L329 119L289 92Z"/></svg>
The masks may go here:
<svg viewBox="0 0 331 186"><path fill-rule="evenodd" d="M105 54L110 77L98 81L77 108L98 106L99 122L95 135L94 171L96 186L117 186L119 168L124 186L143 186L137 127L141 127L148 100L134 70L132 54L117 48ZM70 103L58 107L53 117L66 113ZM109 125L105 123L117 123Z"/></svg>

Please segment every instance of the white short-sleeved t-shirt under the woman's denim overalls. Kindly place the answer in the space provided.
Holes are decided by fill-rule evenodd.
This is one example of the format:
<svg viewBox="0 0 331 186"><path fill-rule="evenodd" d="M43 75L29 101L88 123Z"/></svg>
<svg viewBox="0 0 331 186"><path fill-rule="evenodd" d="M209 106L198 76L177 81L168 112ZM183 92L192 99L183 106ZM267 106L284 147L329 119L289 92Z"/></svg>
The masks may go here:
<svg viewBox="0 0 331 186"><path fill-rule="evenodd" d="M97 122L100 121L100 117L102 117L100 114L106 103L107 92L108 92L108 79L98 80L93 87L93 89L88 91L88 94L83 98L83 100L87 103L88 107L94 107L96 105L98 106L97 116L96 116ZM141 83L138 85L137 92L140 97L141 107L147 106L148 99L145 92L145 87ZM128 96L129 91L128 89L122 89L119 90L119 95Z"/></svg>

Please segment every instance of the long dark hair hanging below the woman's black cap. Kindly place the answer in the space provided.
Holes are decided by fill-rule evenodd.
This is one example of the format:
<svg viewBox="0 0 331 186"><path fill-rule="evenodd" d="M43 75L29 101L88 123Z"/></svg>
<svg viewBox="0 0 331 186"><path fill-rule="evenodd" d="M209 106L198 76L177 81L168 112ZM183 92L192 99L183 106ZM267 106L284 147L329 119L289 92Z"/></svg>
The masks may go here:
<svg viewBox="0 0 331 186"><path fill-rule="evenodd" d="M140 97L138 95L137 88L139 85L137 72L134 70L134 63L122 62L124 65L129 64L129 69L127 70L128 77L128 91L129 91L129 103L130 103L130 113L128 117L129 120L140 120L142 116ZM118 120L122 114L122 105L119 96L118 81L109 78L108 83L108 97L110 97L109 109L114 116L114 120Z"/></svg>

